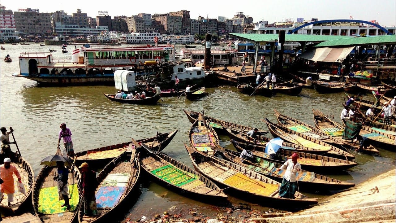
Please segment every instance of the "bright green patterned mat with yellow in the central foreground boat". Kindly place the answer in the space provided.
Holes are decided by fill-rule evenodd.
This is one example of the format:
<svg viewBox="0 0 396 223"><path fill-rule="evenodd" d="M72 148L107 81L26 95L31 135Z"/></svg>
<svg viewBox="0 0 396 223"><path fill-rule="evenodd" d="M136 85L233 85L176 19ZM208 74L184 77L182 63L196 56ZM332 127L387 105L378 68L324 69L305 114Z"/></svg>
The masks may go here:
<svg viewBox="0 0 396 223"><path fill-rule="evenodd" d="M151 171L156 177L175 185L183 186L195 180L199 180L196 175L182 171L173 165L166 165Z"/></svg>

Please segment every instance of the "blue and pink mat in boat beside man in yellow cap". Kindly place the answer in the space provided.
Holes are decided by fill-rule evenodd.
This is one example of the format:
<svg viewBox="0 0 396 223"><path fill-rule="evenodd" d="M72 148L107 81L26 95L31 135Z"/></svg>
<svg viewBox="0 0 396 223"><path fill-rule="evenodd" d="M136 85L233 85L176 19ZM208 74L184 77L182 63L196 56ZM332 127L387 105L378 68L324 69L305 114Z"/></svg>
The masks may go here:
<svg viewBox="0 0 396 223"><path fill-rule="evenodd" d="M101 186L96 192L98 208L114 208L118 204L126 186Z"/></svg>

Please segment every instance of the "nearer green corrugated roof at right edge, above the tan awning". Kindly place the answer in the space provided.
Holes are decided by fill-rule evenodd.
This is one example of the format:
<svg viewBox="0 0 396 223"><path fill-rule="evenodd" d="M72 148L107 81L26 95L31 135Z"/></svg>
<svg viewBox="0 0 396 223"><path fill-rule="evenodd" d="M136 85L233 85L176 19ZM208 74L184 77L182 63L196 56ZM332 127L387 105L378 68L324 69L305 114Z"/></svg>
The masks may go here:
<svg viewBox="0 0 396 223"><path fill-rule="evenodd" d="M377 45L377 44L395 44L396 35L376 36L376 37L358 37L349 39L331 40L321 42L315 47L329 47L329 46L358 46L358 45Z"/></svg>

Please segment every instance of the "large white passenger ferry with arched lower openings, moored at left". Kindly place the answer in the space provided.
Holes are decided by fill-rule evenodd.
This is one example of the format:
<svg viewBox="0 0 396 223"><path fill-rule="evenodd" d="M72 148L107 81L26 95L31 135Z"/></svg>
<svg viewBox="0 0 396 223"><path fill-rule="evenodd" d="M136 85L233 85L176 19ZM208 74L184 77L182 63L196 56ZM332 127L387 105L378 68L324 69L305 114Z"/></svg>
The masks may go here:
<svg viewBox="0 0 396 223"><path fill-rule="evenodd" d="M53 58L51 53L22 52L19 74L40 85L103 85L114 83L114 71L133 70L146 62L180 62L172 45L162 46L91 46L76 48L71 60Z"/></svg>

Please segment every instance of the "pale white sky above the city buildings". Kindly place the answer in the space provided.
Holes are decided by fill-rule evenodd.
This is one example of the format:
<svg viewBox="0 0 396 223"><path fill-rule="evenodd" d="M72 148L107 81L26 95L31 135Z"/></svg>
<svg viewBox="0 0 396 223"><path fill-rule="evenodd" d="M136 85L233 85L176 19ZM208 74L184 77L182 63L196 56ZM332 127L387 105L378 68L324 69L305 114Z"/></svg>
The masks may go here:
<svg viewBox="0 0 396 223"><path fill-rule="evenodd" d="M382 26L394 26L396 20L396 2L385 0L381 1L381 4L372 4L372 1L360 0L360 1L343 1L343 0L307 0L303 2L287 2L287 4L279 4L276 2L259 2L255 0L244 1L243 4L222 4L220 2L199 2L196 5L177 4L179 1L170 0L168 4L161 6L150 6L135 3L128 9L128 7L120 6L92 6L91 2L77 2L75 0L68 1L67 4L59 2L57 6L49 5L43 2L35 2L32 4L27 0L21 0L17 2L6 2L2 4L7 10L13 10L17 12L19 9L31 8L38 9L40 12L56 12L64 10L67 14L71 15L76 12L77 9L81 9L83 13L87 13L90 17L96 17L99 11L108 12L112 18L114 16L126 15L132 16L138 13L168 13L176 12L179 10L190 11L191 19L198 19L198 16L218 18L219 16L225 16L227 19L232 19L236 12L244 12L246 16L253 17L253 22L268 21L269 23L285 21L290 18L296 20L297 17L302 17L304 20L310 20L311 18L318 18L319 20L325 19L350 19L352 17L356 20L377 20ZM76 4L74 4L76 3ZM172 4L173 3L173 4ZM208 7L210 4L210 8ZM257 5L257 6L254 6ZM263 5L263 9L259 6ZM303 7L302 7L303 6ZM309 6L309 7L307 7ZM281 9L279 10L279 7ZM270 10L268 10L270 9ZM299 12L297 12L297 9ZM367 11L370 11L367 13Z"/></svg>

